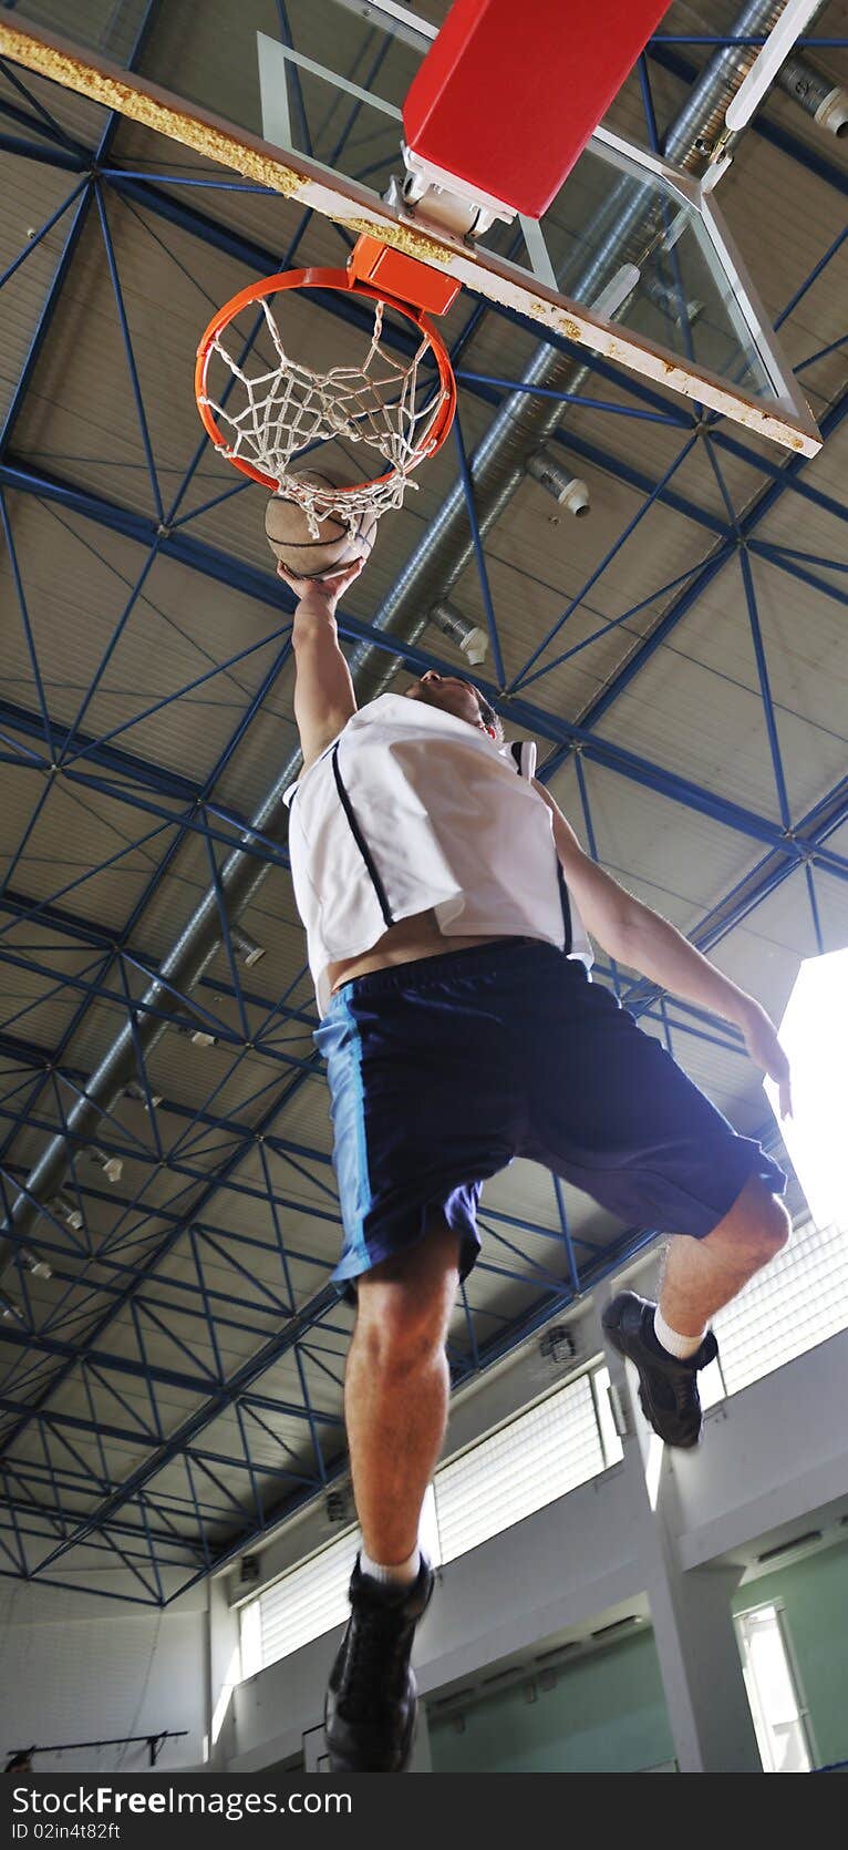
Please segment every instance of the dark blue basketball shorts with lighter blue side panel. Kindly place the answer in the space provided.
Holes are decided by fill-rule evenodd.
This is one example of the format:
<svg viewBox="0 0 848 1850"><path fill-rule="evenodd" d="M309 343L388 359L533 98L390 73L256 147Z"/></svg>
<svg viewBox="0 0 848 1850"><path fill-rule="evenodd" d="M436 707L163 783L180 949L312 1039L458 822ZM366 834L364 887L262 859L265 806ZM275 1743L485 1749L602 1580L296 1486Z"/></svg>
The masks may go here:
<svg viewBox="0 0 848 1850"><path fill-rule="evenodd" d="M785 1175L741 1138L586 966L510 938L345 982L316 1030L344 1219L333 1280L423 1238L430 1210L480 1251L488 1177L528 1156L630 1227L702 1240L748 1177Z"/></svg>

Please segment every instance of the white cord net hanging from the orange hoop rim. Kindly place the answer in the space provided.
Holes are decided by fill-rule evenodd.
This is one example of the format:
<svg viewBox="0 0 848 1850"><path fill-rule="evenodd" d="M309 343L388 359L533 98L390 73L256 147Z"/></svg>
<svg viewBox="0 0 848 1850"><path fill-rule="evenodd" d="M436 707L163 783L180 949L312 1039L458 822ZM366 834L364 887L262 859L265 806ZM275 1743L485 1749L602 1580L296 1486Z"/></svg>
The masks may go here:
<svg viewBox="0 0 848 1850"><path fill-rule="evenodd" d="M384 303L377 302L362 364L314 372L286 353L270 302L262 300L260 307L275 364L248 370L244 355L235 359L225 346L227 337L235 339L233 322L212 342L211 352L224 361L231 388L222 400L205 396L200 401L209 405L225 438L224 455L272 475L277 490L303 507L314 538L320 522L333 512L357 516L373 509L384 514L399 507L410 472L432 448L429 438L445 396L438 376L419 379L430 342L421 339L412 357L390 353L382 339ZM369 479L338 492L292 472L294 457L334 438L360 448L364 470L386 481Z"/></svg>

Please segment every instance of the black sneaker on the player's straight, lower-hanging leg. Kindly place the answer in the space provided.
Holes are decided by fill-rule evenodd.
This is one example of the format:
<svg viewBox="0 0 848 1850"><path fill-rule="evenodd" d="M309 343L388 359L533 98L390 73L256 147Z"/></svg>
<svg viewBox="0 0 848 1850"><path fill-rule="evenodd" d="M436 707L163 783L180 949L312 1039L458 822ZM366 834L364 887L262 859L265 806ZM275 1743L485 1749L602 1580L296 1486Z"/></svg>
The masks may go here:
<svg viewBox="0 0 848 1850"><path fill-rule="evenodd" d="M408 1587L369 1580L357 1560L351 1617L331 1671L323 1715L333 1772L406 1770L418 1713L410 1650L432 1585L425 1556Z"/></svg>

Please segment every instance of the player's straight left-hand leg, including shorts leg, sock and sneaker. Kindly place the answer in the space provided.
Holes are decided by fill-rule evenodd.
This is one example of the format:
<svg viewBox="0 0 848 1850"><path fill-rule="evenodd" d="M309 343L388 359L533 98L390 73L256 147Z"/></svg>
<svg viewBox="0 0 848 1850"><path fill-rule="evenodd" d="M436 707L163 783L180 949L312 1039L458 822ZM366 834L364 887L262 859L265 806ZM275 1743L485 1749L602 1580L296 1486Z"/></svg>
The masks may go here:
<svg viewBox="0 0 848 1850"><path fill-rule="evenodd" d="M497 1010L515 955L480 945L369 971L316 1032L345 1232L334 1280L358 1304L345 1417L364 1548L327 1698L338 1772L399 1772L412 1745L410 1648L432 1591L418 1521L445 1426L447 1321L479 1251L480 1182L517 1134Z"/></svg>

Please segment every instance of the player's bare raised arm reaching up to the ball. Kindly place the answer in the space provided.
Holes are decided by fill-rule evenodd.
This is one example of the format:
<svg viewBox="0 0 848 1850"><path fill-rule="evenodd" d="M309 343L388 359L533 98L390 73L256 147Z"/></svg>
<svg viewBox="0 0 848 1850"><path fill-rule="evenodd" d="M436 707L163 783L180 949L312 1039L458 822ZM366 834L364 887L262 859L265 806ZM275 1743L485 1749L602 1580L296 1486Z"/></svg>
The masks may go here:
<svg viewBox="0 0 848 1850"><path fill-rule="evenodd" d="M338 646L336 605L362 572L355 559L342 572L321 579L299 579L279 566L279 577L297 594L294 612L294 718L301 738L303 770L320 758L325 746L357 712L357 696L347 662Z"/></svg>

